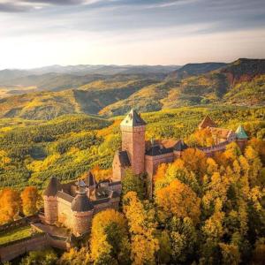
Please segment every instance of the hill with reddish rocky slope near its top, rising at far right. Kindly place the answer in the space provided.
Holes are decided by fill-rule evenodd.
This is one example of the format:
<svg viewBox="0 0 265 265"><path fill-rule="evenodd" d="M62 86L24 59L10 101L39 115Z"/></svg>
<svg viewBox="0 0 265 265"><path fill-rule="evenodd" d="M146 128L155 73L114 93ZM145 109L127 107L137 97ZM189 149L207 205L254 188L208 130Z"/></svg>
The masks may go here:
<svg viewBox="0 0 265 265"><path fill-rule="evenodd" d="M186 79L165 79L101 110L121 115L134 106L140 111L200 104L261 105L265 102L265 60L239 59L221 68Z"/></svg>

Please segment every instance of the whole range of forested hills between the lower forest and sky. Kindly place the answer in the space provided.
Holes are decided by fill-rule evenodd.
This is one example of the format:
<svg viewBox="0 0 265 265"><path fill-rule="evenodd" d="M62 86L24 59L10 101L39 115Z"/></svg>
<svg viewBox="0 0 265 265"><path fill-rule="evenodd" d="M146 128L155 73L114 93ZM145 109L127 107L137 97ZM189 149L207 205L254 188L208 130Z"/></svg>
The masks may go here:
<svg viewBox="0 0 265 265"><path fill-rule="evenodd" d="M216 103L254 106L265 102L264 59L186 64L177 71L172 68L128 67L122 73L108 75L42 70L30 76L23 72L19 77L19 72L14 72L16 79L9 79L9 85L0 89L0 117L52 119L74 113L112 117L124 115L133 106L148 112ZM14 80L17 85L20 82L19 87L13 87Z"/></svg>

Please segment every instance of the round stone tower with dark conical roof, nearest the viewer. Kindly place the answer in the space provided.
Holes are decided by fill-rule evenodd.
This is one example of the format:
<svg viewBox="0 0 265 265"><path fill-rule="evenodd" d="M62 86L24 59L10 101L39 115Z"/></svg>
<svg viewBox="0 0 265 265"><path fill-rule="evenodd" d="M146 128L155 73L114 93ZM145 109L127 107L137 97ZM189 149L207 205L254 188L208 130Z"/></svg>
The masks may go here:
<svg viewBox="0 0 265 265"><path fill-rule="evenodd" d="M75 236L80 236L89 231L93 217L94 206L87 198L85 190L77 191L72 200L72 232Z"/></svg>

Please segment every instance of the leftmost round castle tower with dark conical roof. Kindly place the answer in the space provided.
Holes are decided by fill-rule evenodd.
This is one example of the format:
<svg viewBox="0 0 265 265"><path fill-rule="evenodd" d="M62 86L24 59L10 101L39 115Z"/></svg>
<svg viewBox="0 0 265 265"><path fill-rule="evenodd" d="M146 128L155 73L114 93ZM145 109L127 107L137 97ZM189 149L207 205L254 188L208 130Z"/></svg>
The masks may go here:
<svg viewBox="0 0 265 265"><path fill-rule="evenodd" d="M57 210L57 191L59 190L60 182L57 178L52 177L49 180L49 185L43 193L44 201L44 216L46 223L55 223L58 219Z"/></svg>

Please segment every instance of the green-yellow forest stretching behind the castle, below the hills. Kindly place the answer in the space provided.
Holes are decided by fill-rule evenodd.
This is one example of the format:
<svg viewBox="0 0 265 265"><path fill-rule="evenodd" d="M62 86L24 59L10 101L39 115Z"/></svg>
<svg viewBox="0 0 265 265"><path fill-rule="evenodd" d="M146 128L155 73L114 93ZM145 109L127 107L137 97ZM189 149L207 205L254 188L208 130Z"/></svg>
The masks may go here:
<svg viewBox="0 0 265 265"><path fill-rule="evenodd" d="M242 124L249 137L264 136L264 109L223 106L144 113L147 140L189 140L207 114L217 125L235 130ZM2 119L0 186L20 189L30 184L42 189L51 176L65 182L95 166L109 169L120 146L121 118L107 120L80 114L48 122Z"/></svg>

